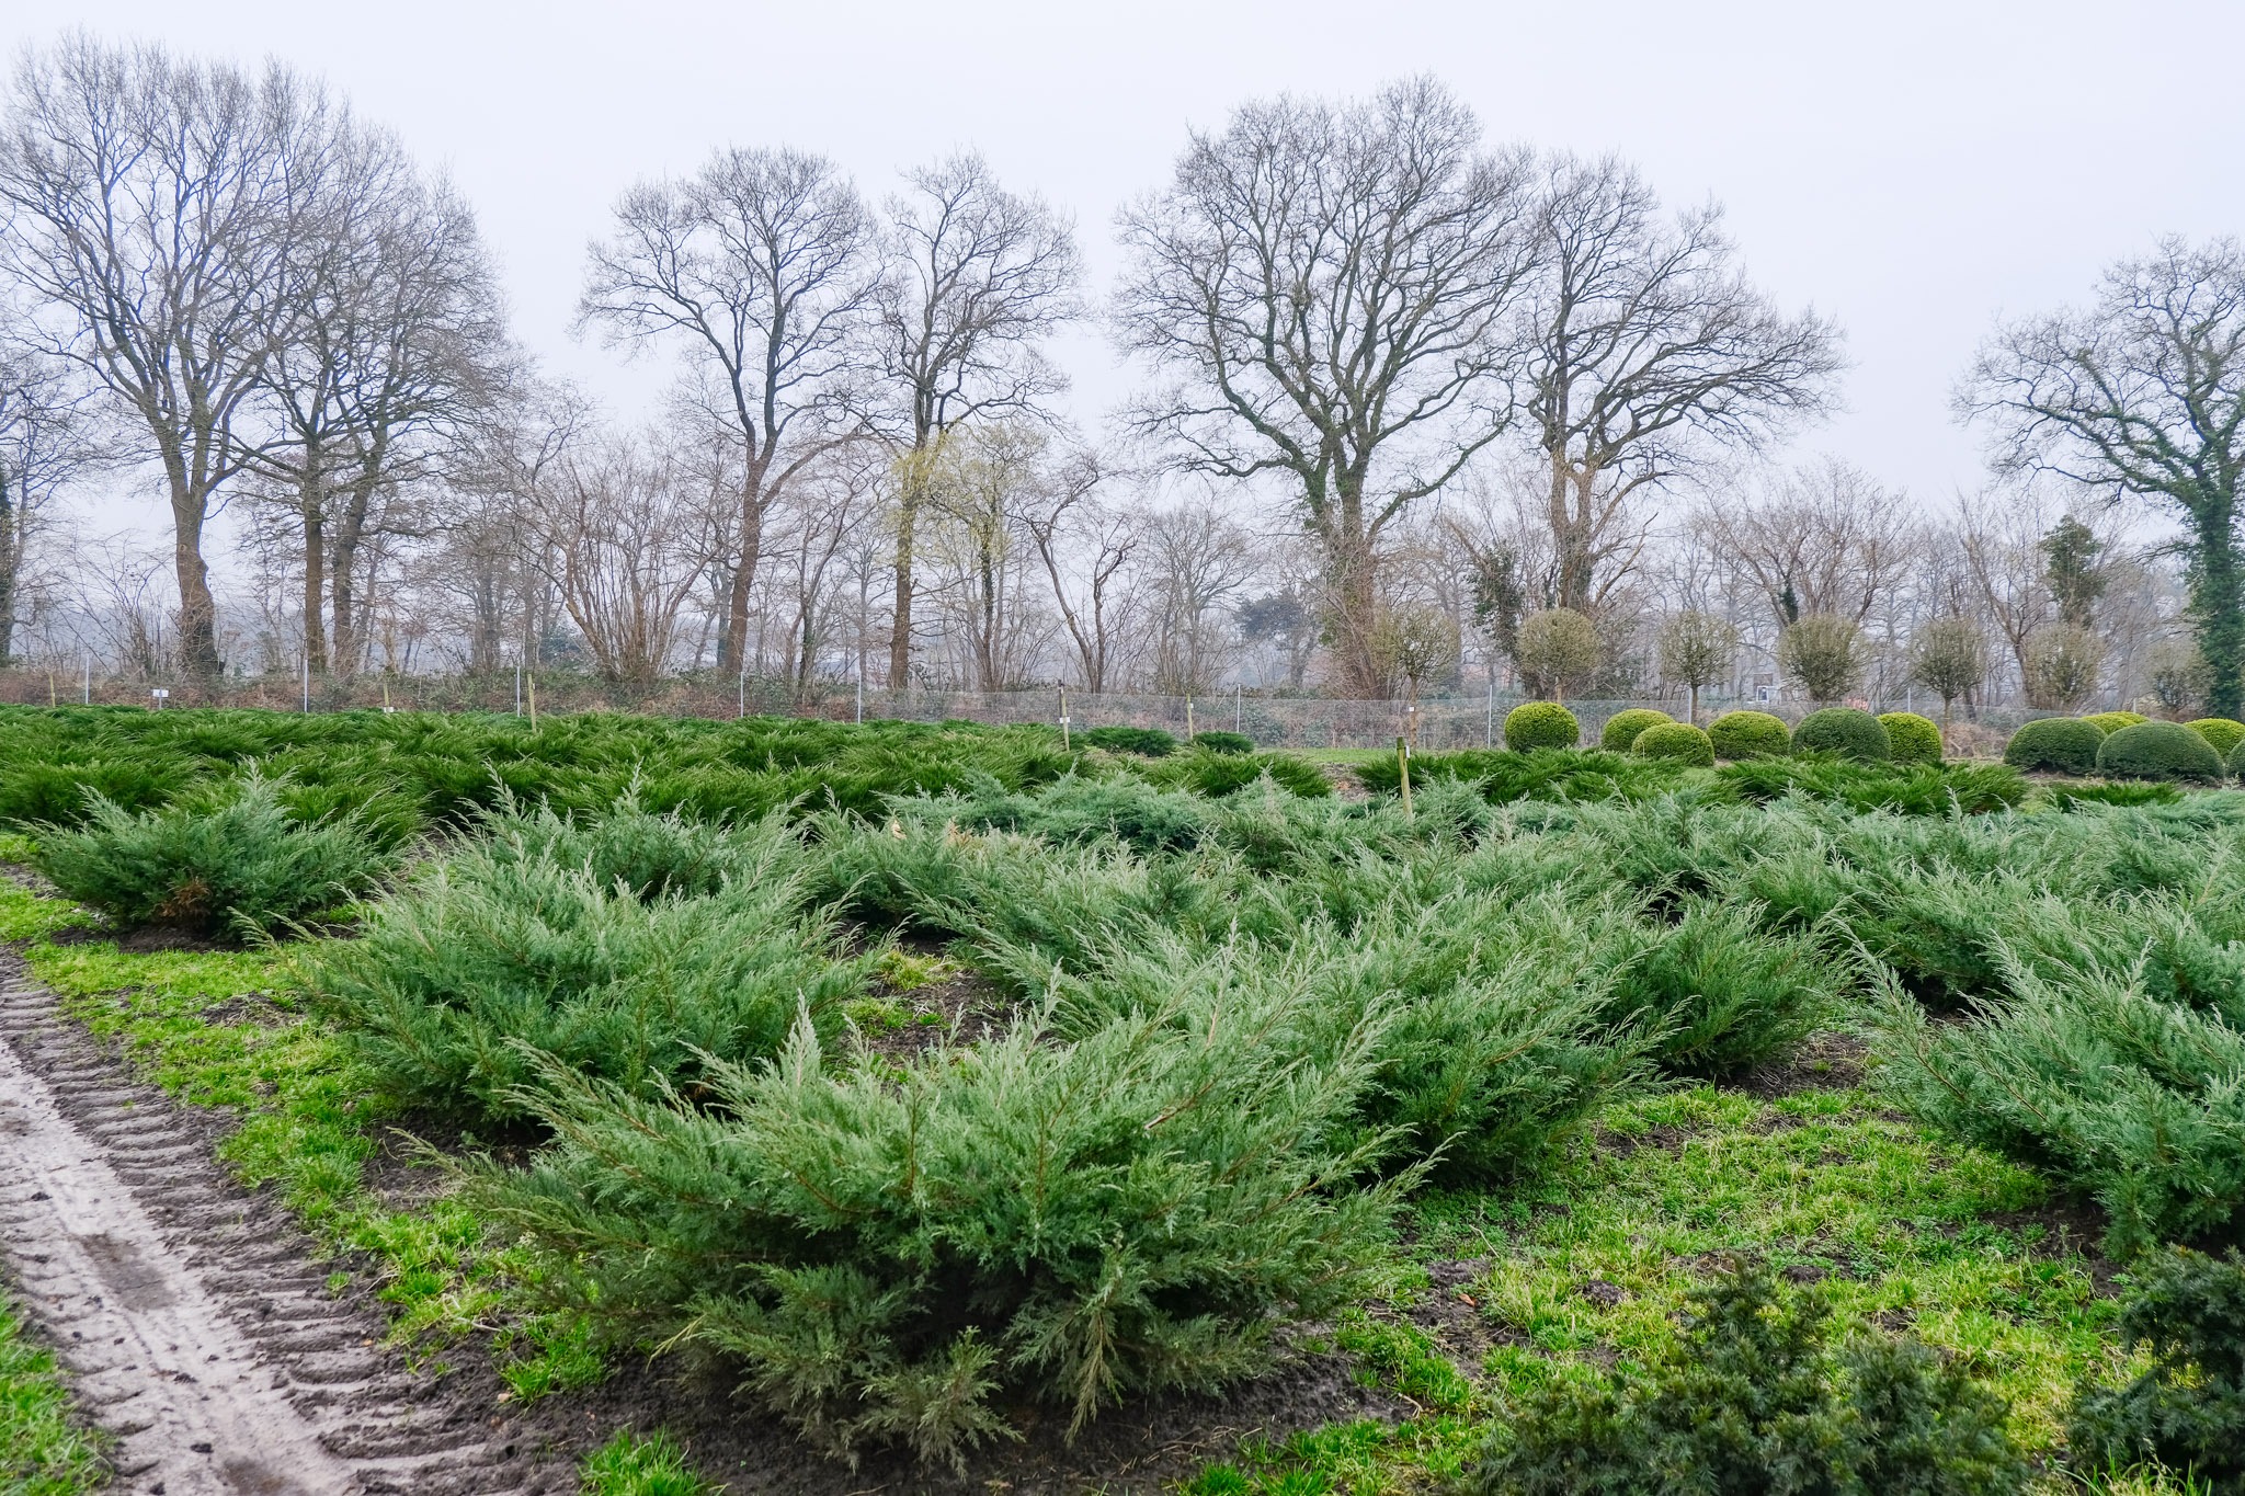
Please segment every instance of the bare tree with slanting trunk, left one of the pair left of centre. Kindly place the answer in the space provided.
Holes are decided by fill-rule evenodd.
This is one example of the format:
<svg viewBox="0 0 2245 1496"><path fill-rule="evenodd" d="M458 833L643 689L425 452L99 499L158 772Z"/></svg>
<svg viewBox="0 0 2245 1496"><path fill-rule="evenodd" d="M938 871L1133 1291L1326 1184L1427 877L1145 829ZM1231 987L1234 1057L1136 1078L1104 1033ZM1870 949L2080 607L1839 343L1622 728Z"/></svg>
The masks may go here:
<svg viewBox="0 0 2245 1496"><path fill-rule="evenodd" d="M579 325L682 343L685 399L739 446L718 664L748 648L763 523L790 478L849 440L846 384L873 307L873 222L826 157L721 150L687 182L642 182L593 244Z"/></svg>

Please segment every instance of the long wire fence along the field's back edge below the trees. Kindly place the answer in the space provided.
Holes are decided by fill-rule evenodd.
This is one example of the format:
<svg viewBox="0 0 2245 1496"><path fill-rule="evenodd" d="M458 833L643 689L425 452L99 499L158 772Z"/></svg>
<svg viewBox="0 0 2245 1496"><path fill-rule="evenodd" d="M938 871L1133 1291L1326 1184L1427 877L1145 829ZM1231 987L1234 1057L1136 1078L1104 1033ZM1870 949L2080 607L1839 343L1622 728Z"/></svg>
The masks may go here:
<svg viewBox="0 0 2245 1496"><path fill-rule="evenodd" d="M853 682L770 677L682 675L651 682L604 682L579 671L534 671L496 675L222 675L139 677L90 671L0 671L0 702L20 707L110 704L155 711L182 707L254 707L265 711L501 711L541 715L620 711L656 718L792 715L902 722L1051 722L1069 720L1073 731L1091 727L1161 727L1176 736L1192 731L1241 731L1259 747L1286 749L1376 749L1412 738L1421 751L1491 747L1504 740L1504 713L1520 693L1403 700L1338 700L1322 695L1257 695L1217 691L1210 695L1082 693L1044 686L1035 691L885 691ZM1937 702L1866 702L1877 711L1913 709L1940 715ZM1684 698L1567 702L1583 722L1583 740L1596 742L1607 718L1632 707L1686 715ZM1731 709L1769 711L1798 722L1812 702L1699 695L1699 720ZM1958 713L1951 751L1982 751L2036 711Z"/></svg>

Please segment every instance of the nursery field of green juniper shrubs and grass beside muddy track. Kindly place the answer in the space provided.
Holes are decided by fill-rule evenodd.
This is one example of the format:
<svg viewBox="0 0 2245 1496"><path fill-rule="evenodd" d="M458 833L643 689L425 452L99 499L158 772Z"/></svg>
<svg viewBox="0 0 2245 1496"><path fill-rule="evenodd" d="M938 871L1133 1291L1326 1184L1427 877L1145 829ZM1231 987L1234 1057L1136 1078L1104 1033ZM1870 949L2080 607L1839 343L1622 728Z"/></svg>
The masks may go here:
<svg viewBox="0 0 2245 1496"><path fill-rule="evenodd" d="M427 1489L2245 1489L2236 745L1834 715L0 709L9 1041L204 1128ZM0 1245L0 1492L99 1489Z"/></svg>

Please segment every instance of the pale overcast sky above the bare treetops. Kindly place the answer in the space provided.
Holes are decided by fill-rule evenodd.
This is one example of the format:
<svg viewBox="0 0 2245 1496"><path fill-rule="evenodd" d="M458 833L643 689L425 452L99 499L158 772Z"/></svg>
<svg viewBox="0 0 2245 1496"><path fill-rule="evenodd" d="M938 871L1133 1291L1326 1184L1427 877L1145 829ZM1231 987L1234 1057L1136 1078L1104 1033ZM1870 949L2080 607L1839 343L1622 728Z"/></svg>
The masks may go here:
<svg viewBox="0 0 2245 1496"><path fill-rule="evenodd" d="M63 20L47 0L0 16L16 40ZM626 410L667 368L570 341L586 238L631 179L727 141L824 150L876 197L979 146L1075 213L1105 292L1116 204L1165 179L1190 126L1435 72L1491 139L1621 150L1670 202L1724 202L1751 274L1848 330L1848 410L1800 451L1935 502L1978 482L1949 388L1998 312L2079 298L2160 233L2245 229L2236 2L88 0L76 20L281 56L397 128L476 202L521 339ZM1129 372L1100 336L1060 352L1096 428Z"/></svg>

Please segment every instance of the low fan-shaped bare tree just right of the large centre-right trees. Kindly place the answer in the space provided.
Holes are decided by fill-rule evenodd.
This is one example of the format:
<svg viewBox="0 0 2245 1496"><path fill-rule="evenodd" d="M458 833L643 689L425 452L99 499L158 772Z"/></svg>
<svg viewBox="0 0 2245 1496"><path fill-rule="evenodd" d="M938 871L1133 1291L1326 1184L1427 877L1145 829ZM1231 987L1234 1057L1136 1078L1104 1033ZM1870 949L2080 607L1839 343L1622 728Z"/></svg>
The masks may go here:
<svg viewBox="0 0 2245 1496"><path fill-rule="evenodd" d="M1778 628L1812 612L1863 624L1919 558L1908 500L1836 458L1783 473L1751 502L1704 505L1697 523Z"/></svg>

